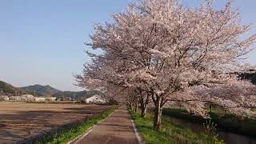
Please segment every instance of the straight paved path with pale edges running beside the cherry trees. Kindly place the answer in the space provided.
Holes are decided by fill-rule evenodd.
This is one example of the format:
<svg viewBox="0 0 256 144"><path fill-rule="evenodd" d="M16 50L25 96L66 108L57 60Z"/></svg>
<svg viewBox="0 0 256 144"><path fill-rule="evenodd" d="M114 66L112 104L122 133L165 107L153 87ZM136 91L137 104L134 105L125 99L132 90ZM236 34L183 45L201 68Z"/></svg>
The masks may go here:
<svg viewBox="0 0 256 144"><path fill-rule="evenodd" d="M75 144L138 144L134 126L126 106L121 106L109 118Z"/></svg>

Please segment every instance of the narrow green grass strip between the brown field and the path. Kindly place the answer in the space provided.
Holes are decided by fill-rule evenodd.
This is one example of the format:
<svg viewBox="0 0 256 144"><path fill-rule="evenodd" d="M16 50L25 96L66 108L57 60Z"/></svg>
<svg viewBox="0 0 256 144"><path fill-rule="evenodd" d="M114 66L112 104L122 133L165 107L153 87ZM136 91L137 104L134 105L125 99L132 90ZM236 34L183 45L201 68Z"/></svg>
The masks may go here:
<svg viewBox="0 0 256 144"><path fill-rule="evenodd" d="M77 138L79 135L84 134L86 130L88 130L91 126L94 126L102 119L108 117L111 113L114 112L114 108L110 110L104 110L102 114L98 114L94 116L94 118L90 118L84 120L82 122L78 122L72 124L70 126L63 127L60 130L57 130L54 133L46 134L45 137L40 138L32 143L35 144L60 144L60 143L67 143Z"/></svg>

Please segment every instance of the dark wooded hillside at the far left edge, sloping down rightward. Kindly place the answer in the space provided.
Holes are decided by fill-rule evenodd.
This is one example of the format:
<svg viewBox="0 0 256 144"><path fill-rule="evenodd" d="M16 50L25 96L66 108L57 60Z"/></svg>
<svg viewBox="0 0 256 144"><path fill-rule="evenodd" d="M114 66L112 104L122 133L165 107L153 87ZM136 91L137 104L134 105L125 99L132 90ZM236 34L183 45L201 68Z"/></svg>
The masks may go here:
<svg viewBox="0 0 256 144"><path fill-rule="evenodd" d="M26 90L21 90L18 87L14 87L10 85L9 83L2 82L0 81L0 93L6 93L6 94L17 94L17 95L22 95L22 94L31 94L29 91ZM39 96L40 94L36 94Z"/></svg>

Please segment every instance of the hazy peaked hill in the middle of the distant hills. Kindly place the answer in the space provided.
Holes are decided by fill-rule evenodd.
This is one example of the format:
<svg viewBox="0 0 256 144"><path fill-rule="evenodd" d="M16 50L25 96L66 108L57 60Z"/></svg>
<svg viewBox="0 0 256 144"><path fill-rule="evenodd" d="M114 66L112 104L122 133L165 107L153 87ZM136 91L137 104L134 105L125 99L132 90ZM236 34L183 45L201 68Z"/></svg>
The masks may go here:
<svg viewBox="0 0 256 144"><path fill-rule="evenodd" d="M34 85L34 86L25 86L25 87L20 87L22 90L30 91L31 93L38 93L41 94L42 96L48 96L48 95L53 95L59 92L62 92L61 90L57 90L49 85L47 86L41 86L41 85Z"/></svg>

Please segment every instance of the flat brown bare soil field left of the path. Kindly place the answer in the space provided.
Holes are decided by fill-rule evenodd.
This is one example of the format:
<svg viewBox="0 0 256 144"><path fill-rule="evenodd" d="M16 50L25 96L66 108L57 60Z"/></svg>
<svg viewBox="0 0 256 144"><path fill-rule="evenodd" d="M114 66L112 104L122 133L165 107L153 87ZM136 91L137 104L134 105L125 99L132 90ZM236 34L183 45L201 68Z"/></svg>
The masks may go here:
<svg viewBox="0 0 256 144"><path fill-rule="evenodd" d="M0 102L0 143L15 143L108 108L70 103Z"/></svg>

